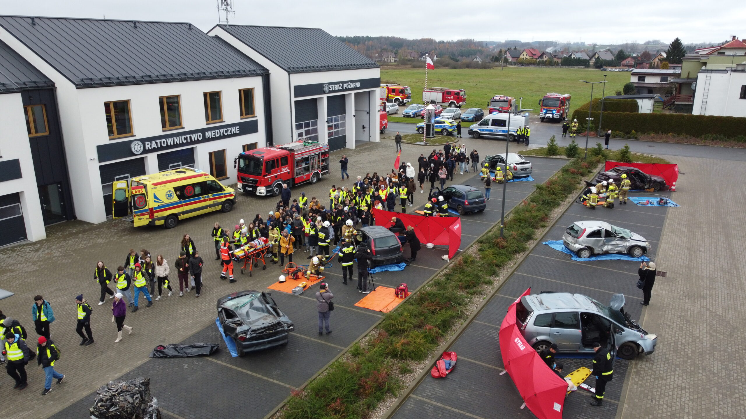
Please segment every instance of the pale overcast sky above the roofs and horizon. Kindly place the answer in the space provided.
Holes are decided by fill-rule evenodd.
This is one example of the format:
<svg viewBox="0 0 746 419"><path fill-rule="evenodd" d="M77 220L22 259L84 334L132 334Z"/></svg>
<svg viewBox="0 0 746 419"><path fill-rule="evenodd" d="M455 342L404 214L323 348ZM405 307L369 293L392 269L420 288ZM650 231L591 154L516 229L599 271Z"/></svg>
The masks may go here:
<svg viewBox="0 0 746 419"><path fill-rule="evenodd" d="M400 1L400 0L233 0L231 22L245 25L322 28L332 35L398 36L482 41L559 41L599 44L719 42L739 34L746 2L728 2L715 13L700 1L563 0ZM453 5L453 12L446 5ZM473 7L464 7L471 4ZM532 6L530 4L537 4ZM707 13L712 11L712 13ZM0 13L107 19L192 22L204 31L217 22L216 0L0 0ZM418 22L419 21L419 22Z"/></svg>

